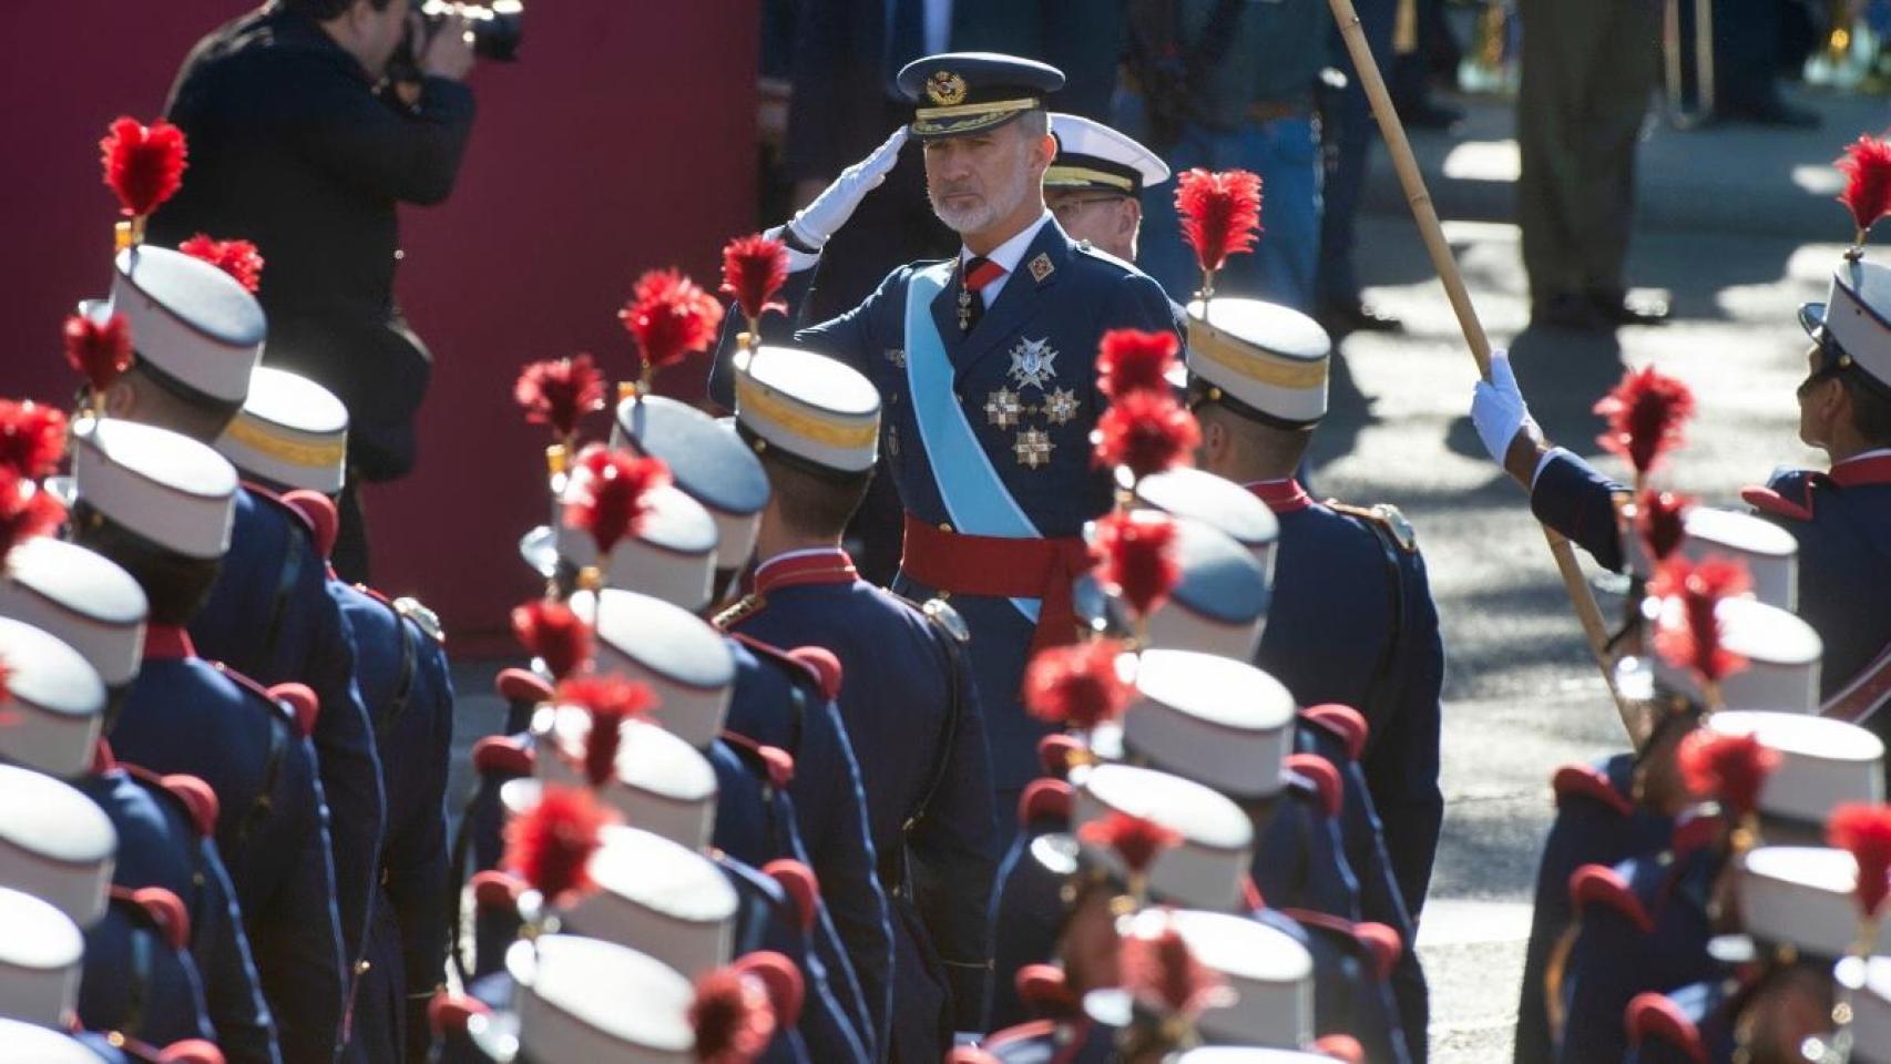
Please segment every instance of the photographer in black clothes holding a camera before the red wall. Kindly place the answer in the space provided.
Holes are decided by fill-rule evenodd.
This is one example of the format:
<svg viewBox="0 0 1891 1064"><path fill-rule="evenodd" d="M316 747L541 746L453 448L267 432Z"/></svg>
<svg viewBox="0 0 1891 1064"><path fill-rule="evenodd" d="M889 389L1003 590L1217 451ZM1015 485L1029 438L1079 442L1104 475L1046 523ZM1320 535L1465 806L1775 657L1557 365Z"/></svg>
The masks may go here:
<svg viewBox="0 0 1891 1064"><path fill-rule="evenodd" d="M395 206L452 193L473 130L471 38L463 17L424 19L410 0L270 0L191 49L166 106L189 174L149 238L244 238L267 261L265 361L348 404L335 546L348 580L369 578L357 482L414 465L431 355L393 300Z"/></svg>

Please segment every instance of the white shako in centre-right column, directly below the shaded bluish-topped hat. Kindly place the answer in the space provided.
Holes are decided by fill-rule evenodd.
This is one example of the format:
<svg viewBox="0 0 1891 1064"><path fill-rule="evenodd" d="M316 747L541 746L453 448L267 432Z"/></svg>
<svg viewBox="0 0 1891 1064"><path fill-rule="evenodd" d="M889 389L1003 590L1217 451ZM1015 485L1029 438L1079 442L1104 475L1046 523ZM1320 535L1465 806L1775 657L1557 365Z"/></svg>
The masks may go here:
<svg viewBox="0 0 1891 1064"><path fill-rule="evenodd" d="M1231 798L1284 786L1299 707L1280 680L1231 658L1144 650L1136 699L1123 711L1123 752Z"/></svg>

